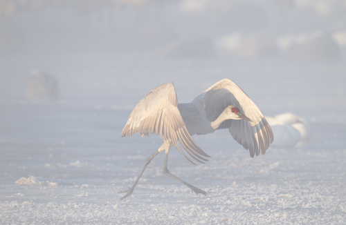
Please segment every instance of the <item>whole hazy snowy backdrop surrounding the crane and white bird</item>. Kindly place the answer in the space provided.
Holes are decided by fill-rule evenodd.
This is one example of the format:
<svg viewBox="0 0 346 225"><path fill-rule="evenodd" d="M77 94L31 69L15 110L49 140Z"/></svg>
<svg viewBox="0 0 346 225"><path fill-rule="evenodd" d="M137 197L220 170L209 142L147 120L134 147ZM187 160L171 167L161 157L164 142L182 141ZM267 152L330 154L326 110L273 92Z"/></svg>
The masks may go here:
<svg viewBox="0 0 346 225"><path fill-rule="evenodd" d="M345 1L0 1L0 224L345 224ZM189 102L238 84L309 138L251 158L227 130L194 166L121 138L167 81Z"/></svg>

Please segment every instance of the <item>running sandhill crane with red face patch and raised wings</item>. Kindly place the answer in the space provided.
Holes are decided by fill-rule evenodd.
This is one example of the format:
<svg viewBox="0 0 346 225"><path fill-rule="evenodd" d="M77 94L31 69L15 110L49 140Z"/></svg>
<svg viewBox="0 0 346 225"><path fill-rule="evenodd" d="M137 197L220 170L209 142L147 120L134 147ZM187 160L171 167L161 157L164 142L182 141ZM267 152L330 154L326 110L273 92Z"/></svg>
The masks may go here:
<svg viewBox="0 0 346 225"><path fill-rule="evenodd" d="M206 191L184 182L172 175L167 169L167 159L170 147L174 146L192 164L192 157L197 162L208 161L210 157L197 146L192 135L206 135L215 130L228 128L230 135L248 149L251 157L264 154L269 144L273 142L273 133L260 109L253 101L230 79L223 79L204 90L191 103L178 104L172 82L168 82L151 90L144 99L132 110L122 137L140 133L143 137L154 133L163 137L163 145L147 157L145 165L138 175L134 185L120 200L131 195L152 159L165 150L163 173L191 188L192 192L206 195ZM183 145L188 155L185 155L178 141Z"/></svg>

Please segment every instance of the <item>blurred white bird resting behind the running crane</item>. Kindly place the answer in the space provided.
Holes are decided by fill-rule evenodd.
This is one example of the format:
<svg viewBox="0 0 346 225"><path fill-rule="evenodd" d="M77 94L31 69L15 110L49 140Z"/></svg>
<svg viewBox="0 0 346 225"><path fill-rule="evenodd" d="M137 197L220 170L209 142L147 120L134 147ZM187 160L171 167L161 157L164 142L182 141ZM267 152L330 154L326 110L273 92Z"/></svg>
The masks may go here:
<svg viewBox="0 0 346 225"><path fill-rule="evenodd" d="M301 141L309 139L311 135L309 124L293 113L282 113L275 117L266 116L266 120L275 136L271 144L273 148L293 148Z"/></svg>

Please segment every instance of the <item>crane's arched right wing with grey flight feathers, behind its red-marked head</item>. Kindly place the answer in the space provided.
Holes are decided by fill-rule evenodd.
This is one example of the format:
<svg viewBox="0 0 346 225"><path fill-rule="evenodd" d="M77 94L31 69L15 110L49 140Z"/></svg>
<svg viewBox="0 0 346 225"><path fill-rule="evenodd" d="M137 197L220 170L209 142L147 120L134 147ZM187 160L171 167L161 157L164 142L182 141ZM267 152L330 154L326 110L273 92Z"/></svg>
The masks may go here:
<svg viewBox="0 0 346 225"><path fill-rule="evenodd" d="M252 119L253 122L228 119L222 122L218 129L228 128L230 135L249 150L251 157L260 155L260 151L262 154L266 153L274 138L271 126L260 108L237 84L230 79L223 79L199 96L203 97L203 107L209 121L215 121L227 106L236 106L246 117Z"/></svg>

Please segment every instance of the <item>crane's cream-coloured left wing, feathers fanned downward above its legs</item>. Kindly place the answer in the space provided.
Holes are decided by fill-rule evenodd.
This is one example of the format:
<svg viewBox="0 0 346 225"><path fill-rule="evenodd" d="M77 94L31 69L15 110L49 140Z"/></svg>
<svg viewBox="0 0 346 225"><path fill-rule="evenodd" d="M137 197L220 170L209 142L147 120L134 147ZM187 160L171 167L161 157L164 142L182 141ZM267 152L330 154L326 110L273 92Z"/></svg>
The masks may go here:
<svg viewBox="0 0 346 225"><path fill-rule="evenodd" d="M194 163L183 153L178 141L192 158L198 162L201 162L199 159L208 161L201 156L210 156L194 143L177 106L178 99L171 82L154 88L132 110L125 128L122 129L121 137L129 137L134 133L140 133L145 137L148 133L153 133L160 135L165 141L169 141L192 164Z"/></svg>

